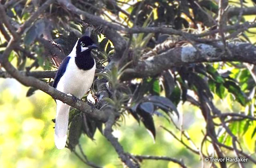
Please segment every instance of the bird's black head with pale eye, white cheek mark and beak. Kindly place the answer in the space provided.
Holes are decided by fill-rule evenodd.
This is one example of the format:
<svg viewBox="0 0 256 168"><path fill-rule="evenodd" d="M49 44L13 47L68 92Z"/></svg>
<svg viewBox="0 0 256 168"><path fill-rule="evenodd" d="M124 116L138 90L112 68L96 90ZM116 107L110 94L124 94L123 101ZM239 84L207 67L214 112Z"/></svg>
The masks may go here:
<svg viewBox="0 0 256 168"><path fill-rule="evenodd" d="M77 55L84 51L91 52L92 49L97 49L97 45L93 42L93 40L89 36L83 36L79 38L77 42Z"/></svg>

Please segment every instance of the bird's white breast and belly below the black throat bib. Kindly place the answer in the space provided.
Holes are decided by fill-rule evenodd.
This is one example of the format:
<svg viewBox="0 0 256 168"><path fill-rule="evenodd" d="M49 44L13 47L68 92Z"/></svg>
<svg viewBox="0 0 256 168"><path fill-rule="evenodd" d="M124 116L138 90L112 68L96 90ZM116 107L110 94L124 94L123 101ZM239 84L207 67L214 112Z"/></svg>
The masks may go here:
<svg viewBox="0 0 256 168"><path fill-rule="evenodd" d="M93 84L95 68L94 64L90 70L78 69L75 57L71 56L66 71L57 84L57 90L81 98Z"/></svg>

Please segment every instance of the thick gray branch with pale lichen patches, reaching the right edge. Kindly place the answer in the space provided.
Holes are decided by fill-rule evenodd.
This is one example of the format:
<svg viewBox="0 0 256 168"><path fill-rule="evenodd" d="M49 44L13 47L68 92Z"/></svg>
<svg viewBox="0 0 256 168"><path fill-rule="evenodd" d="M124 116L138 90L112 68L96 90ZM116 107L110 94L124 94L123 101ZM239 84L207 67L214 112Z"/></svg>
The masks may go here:
<svg viewBox="0 0 256 168"><path fill-rule="evenodd" d="M256 46L245 42L227 43L232 55L223 53L220 48L222 43L197 44L197 51L193 46L183 46L170 49L159 55L141 60L137 66L127 69L121 77L122 80L129 80L135 77L154 76L173 66L183 66L199 62L221 62L239 61L256 64Z"/></svg>

